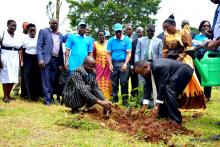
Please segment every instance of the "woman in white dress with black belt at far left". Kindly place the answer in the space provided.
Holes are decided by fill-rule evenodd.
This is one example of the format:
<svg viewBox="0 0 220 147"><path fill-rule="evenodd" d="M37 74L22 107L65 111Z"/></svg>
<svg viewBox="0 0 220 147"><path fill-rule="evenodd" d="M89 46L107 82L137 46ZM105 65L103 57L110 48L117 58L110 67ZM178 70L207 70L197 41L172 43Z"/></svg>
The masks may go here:
<svg viewBox="0 0 220 147"><path fill-rule="evenodd" d="M10 96L11 89L14 83L18 83L19 54L20 48L22 47L22 39L15 34L16 26L14 20L8 20L8 29L0 34L0 82L3 87L3 101L5 103L12 100L12 97Z"/></svg>

